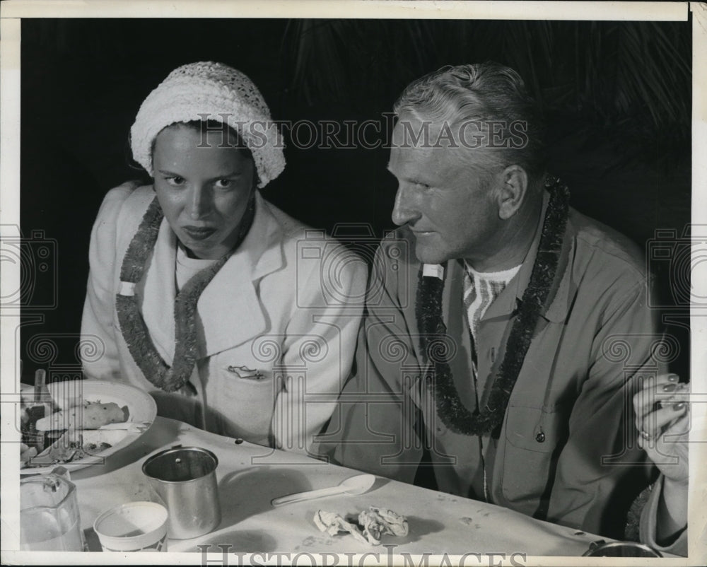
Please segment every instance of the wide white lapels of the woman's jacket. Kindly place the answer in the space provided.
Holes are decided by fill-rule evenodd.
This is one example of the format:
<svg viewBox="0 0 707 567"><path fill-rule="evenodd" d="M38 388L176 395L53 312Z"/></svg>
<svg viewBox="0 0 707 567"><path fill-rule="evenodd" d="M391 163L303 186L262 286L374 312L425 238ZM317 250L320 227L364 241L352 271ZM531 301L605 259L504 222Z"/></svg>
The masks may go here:
<svg viewBox="0 0 707 567"><path fill-rule="evenodd" d="M142 313L156 348L170 362L175 349L176 255L177 238L167 219L163 219L143 279ZM233 348L264 332L266 317L255 282L284 263L282 228L267 202L256 192L255 218L245 240L199 297L200 356Z"/></svg>

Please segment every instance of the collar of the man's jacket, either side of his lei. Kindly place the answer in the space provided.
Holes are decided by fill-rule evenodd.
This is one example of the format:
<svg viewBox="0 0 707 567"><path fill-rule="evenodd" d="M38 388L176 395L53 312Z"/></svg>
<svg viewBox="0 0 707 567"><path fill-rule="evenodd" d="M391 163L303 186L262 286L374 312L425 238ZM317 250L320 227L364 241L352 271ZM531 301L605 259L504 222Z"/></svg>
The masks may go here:
<svg viewBox="0 0 707 567"><path fill-rule="evenodd" d="M498 297L493 300L493 303L489 305L488 310L486 310L486 313L484 314L484 319L510 315L520 305L523 293L525 293L525 289L530 283L530 276L532 274L535 258L537 257L537 249L540 243L542 224L547 211L548 202L549 193L546 191L542 200L542 211L540 214L541 220L535 230L532 244L530 245L527 255L525 255L525 259L518 270L518 274L515 274L513 279L508 282L506 289L504 289ZM568 221L568 227L569 223L570 221ZM571 270L568 269L568 267L573 249L574 239L570 238L570 231L566 228L565 235L562 239L562 250L560 252L553 287L550 290L550 303L547 305L547 309L544 309L540 313L544 319L550 322L562 322L567 317L571 292ZM462 272L464 271L463 260L453 262L453 264L457 267L455 269L461 269Z"/></svg>

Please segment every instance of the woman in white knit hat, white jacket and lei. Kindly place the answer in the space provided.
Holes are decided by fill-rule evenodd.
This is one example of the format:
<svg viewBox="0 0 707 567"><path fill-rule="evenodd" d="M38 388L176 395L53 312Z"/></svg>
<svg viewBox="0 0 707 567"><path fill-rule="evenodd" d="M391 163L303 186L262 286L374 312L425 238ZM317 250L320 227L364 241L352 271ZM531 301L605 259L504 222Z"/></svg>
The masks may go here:
<svg viewBox="0 0 707 567"><path fill-rule="evenodd" d="M271 124L218 63L144 100L131 146L154 182L112 189L93 226L81 334L101 348L83 367L162 416L306 452L351 366L366 266L261 197L285 165Z"/></svg>

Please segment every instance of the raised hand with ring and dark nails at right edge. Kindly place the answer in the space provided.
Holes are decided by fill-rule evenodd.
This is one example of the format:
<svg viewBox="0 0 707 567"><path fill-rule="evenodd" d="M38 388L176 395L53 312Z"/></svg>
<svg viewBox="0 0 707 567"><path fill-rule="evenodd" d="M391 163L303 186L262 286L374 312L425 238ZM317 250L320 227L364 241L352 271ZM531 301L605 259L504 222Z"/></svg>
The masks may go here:
<svg viewBox="0 0 707 567"><path fill-rule="evenodd" d="M648 378L633 396L638 446L666 479L687 486L690 425L689 384L677 374Z"/></svg>

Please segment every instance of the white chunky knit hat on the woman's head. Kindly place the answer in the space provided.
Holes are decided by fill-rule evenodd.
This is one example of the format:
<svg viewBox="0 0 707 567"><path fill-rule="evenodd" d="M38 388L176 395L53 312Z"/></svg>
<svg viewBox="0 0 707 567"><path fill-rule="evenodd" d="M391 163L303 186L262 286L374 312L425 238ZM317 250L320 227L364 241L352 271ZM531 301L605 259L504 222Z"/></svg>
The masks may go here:
<svg viewBox="0 0 707 567"><path fill-rule="evenodd" d="M152 144L157 134L175 122L205 117L226 122L240 134L255 160L258 187L282 173L284 144L260 91L240 71L214 62L178 67L147 96L130 129L133 158L153 175Z"/></svg>

